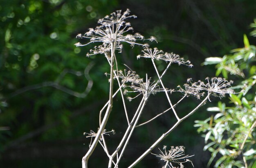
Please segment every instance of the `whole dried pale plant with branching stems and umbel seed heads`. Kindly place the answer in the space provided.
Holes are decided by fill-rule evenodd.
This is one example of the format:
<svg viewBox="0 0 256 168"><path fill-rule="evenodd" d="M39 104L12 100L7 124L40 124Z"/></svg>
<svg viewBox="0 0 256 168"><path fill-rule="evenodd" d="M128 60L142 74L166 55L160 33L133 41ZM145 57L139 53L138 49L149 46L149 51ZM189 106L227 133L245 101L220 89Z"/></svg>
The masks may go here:
<svg viewBox="0 0 256 168"><path fill-rule="evenodd" d="M130 16L129 13L130 11L128 9L124 13L122 13L121 11L111 13L110 16L106 16L105 18L100 19L98 22L99 26L95 29L90 28L89 31L85 34L78 34L76 36L76 38L86 38L90 40L90 42L86 44L76 43L75 45L77 47L89 45L91 43L99 43L99 45L95 46L94 49L90 50L90 53L88 53L87 56L91 56L94 54L103 54L110 65L110 73L106 74L109 77L109 100L99 112L98 131L91 131L90 133L85 133L87 137L91 138L91 143L90 149L82 159L83 168L88 167L88 159L92 155L92 152L94 151L98 142L101 144L103 150L106 152L106 156L109 158L108 168L111 168L113 165L115 168L118 168L119 162L123 157L124 151L128 146L130 137L132 136L135 128L154 121L157 117L161 116L166 112L173 112L177 119L176 123L166 132L164 132L161 137L156 139L153 145L150 146L139 158L137 158L137 160L130 164L129 168L132 168L139 161L141 161L141 159L148 155L150 151L155 148L168 134L170 134L170 132L172 132L177 127L177 125L179 125L184 119L192 115L196 110L198 110L198 108L200 108L200 106L204 105L207 100L209 100L211 95L222 97L227 93L233 93L233 90L227 88L229 87L231 82L226 81L222 78L207 78L207 83L204 83L202 81L192 83L191 79L188 79L188 83L184 85L184 88L178 86L177 89L168 89L164 85L162 77L166 74L169 67L171 67L171 64L177 63L178 65L186 65L188 67L192 67L193 65L190 63L189 60L184 60L184 58L181 58L177 54L164 53L162 50L159 50L157 48L151 49L147 43L139 43L139 41L145 40L149 40L151 42L156 41L156 38L151 36L150 38L146 39L144 38L144 36L141 36L138 33L128 34L128 32L131 32L133 29L130 26L130 23L126 22L125 20L128 18L136 17L133 15ZM142 55L137 56L137 58L151 59L152 65L155 69L155 73L157 74L157 79L150 78L147 76L147 74L146 79L144 79L139 77L139 75L132 70L119 70L117 65L118 57L116 54L122 51L121 43L128 43L132 47L134 47L135 45L143 47ZM167 63L167 66L162 72L160 72L157 68L155 61L164 61ZM114 82L118 84L118 88L114 88ZM144 123L139 123L139 119L141 118L141 114L146 106L146 102L152 94L157 94L158 92L165 93L166 101L168 101L170 108L164 110L164 112L159 112L157 116ZM173 104L173 102L171 101L172 92L180 92L184 95L179 101ZM117 145L115 151L113 153L110 153L108 151L108 145L104 139L104 135L110 132L106 132L105 126L108 122L110 112L112 111L113 98L118 93L121 94L122 103L124 106L124 116L127 121L127 129L124 133L124 136L121 138L120 143ZM130 94L132 94L133 97ZM178 115L175 107L190 95L195 96L198 99L201 99L203 96L205 96L205 98L203 100L200 100L200 103L198 103L198 105L195 105L195 108L188 112L185 116ZM127 110L126 99L128 99L129 101L132 101L133 99L140 99L139 106L135 112ZM104 116L102 116L103 113ZM129 116L132 116L132 118L130 118ZM169 150L168 152L165 150L165 152L161 152L162 154L157 156L161 157L162 159L165 158L168 162L176 161L180 163L180 167L182 167L183 162L179 162L179 160L189 157L183 156L183 150L183 147L171 148L171 150ZM168 160L167 157L169 157L169 155L170 158ZM171 160L171 157L173 158L173 160Z"/></svg>

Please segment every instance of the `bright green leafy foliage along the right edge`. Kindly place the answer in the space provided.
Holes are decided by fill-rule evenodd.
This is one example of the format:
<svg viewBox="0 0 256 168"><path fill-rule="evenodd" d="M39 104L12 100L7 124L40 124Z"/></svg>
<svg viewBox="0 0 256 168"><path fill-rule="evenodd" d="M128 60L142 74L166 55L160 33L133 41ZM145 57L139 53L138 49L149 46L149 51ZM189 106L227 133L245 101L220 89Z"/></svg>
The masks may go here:
<svg viewBox="0 0 256 168"><path fill-rule="evenodd" d="M217 64L216 75L222 73L225 78L228 74L239 76L240 84L234 89L245 87L244 92L237 96L230 94L231 105L219 102L218 107L207 109L217 114L204 121L195 121L198 132L205 133L203 137L207 145L204 150L212 153L208 166L215 158L216 168L256 166L256 46L249 44L246 35L244 45L232 50L231 55L207 58L204 62L204 65Z"/></svg>

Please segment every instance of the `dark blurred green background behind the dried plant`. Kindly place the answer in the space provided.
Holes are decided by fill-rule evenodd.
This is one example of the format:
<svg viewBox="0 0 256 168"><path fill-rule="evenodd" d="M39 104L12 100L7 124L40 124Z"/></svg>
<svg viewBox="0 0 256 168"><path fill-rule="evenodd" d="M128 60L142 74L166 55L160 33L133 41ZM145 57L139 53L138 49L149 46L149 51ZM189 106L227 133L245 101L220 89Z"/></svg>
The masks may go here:
<svg viewBox="0 0 256 168"><path fill-rule="evenodd" d="M0 168L80 168L90 139L83 132L96 131L99 110L108 100L108 63L101 56L87 58L93 47L76 48L75 36L96 27L97 20L115 10L130 9L136 19L129 20L135 32L156 36L151 44L191 60L194 67L173 65L164 78L172 88L186 78L203 80L215 75L214 66L201 66L205 58L223 56L243 47L243 34L256 17L255 0L1 0L0 1ZM255 44L255 40L249 37ZM80 40L80 42L85 42ZM139 60L141 48L124 46L120 63L141 76L153 74L150 61ZM88 65L92 90L83 71ZM121 65L122 66L122 65ZM160 66L160 65L159 65ZM123 66L124 67L124 66ZM79 71L76 76L63 72ZM78 73L79 74L79 73ZM57 83L58 79L59 82ZM68 93L67 93L68 92ZM76 95L71 95L76 93ZM80 97L79 97L80 96ZM173 95L173 101L179 100ZM159 145L185 146L197 168L206 167L209 153L203 152L204 139L193 128L195 120L210 116L206 108L216 105L212 99L179 125ZM225 99L223 99L225 101ZM124 133L126 122L120 112L121 99L114 100L112 116L106 127L116 134L106 137L110 151ZM180 107L186 114L198 101L189 99ZM129 104L135 110L136 100ZM168 108L164 94L147 103L141 121ZM171 114L138 128L128 145L120 167L126 167L141 155L157 137L175 122ZM158 149L153 150L158 153ZM100 146L89 160L90 167L106 167L108 158ZM163 162L148 155L139 168L162 167ZM186 165L191 167L190 164Z"/></svg>

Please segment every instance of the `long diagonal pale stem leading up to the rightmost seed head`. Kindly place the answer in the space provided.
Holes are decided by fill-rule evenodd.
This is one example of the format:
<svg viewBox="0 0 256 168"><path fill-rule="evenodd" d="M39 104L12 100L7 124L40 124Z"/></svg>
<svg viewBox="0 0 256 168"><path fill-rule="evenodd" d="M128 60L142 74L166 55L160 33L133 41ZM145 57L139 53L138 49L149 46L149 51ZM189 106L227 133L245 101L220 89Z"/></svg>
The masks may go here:
<svg viewBox="0 0 256 168"><path fill-rule="evenodd" d="M134 167L136 164L139 163L139 161L141 161L146 155L148 155L151 150L153 150L165 137L168 136L168 134L170 134L176 127L177 125L179 125L184 119L186 119L187 117L191 116L196 110L198 110L198 108L200 108L201 105L203 105L207 99L209 98L209 94L207 95L207 97L191 112L189 112L189 114L187 114L186 116L184 116L182 119L178 120L173 127L168 130L167 132L165 132L164 134L162 134L161 137L159 137L159 139L157 139L157 141L155 141L155 143L153 143L152 146L150 146L150 148L148 148L148 150L146 150L135 162L133 162L128 168L132 168Z"/></svg>

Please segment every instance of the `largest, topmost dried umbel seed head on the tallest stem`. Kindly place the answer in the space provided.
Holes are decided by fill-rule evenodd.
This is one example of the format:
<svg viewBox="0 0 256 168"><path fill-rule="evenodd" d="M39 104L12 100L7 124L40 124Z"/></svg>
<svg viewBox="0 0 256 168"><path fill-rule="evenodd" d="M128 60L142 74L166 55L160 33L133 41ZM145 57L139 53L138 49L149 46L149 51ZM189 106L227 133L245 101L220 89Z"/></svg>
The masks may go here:
<svg viewBox="0 0 256 168"><path fill-rule="evenodd" d="M144 36L141 36L139 33L127 34L128 31L133 31L133 28L130 26L129 22L125 20L128 18L136 18L135 15L129 15L130 10L127 9L124 13L121 10L111 13L110 16L106 16L98 21L99 26L95 29L90 28L88 32L84 35L78 34L76 38L87 38L90 40L89 43L81 44L76 43L76 47L85 46L90 43L102 43L101 45L95 46L94 49L88 53L87 56L94 54L106 54L110 52L113 46L115 49L121 52L122 45L121 42L130 44L132 47L134 45L141 45L148 47L148 44L137 43L137 40L150 40L156 41L156 38L151 36L148 39L145 39Z"/></svg>

